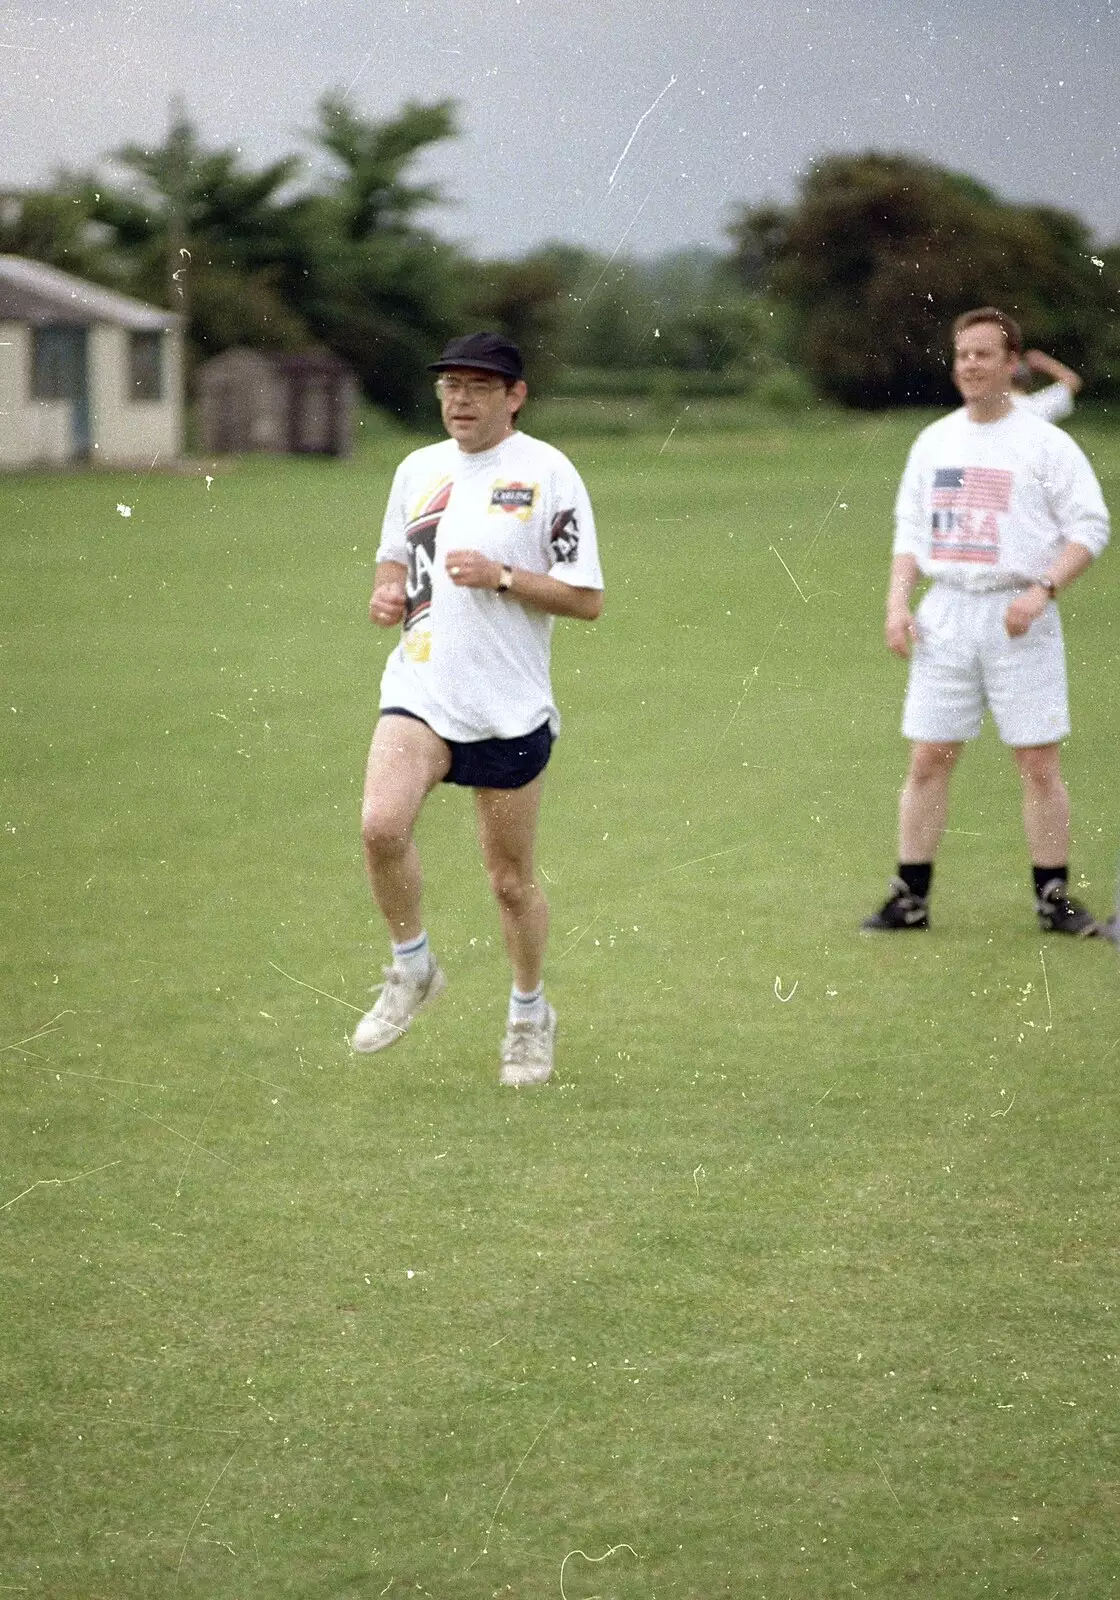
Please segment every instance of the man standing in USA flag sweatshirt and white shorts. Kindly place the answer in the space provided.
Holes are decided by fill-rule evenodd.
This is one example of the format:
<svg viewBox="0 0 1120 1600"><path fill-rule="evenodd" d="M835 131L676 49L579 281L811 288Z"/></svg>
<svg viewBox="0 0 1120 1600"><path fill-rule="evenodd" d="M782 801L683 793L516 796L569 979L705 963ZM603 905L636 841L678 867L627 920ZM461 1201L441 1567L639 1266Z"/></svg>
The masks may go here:
<svg viewBox="0 0 1120 1600"><path fill-rule="evenodd" d="M984 707L1014 754L1035 910L1046 933L1094 934L1069 894L1066 654L1054 597L1109 538L1093 469L1061 429L1014 406L1022 341L986 306L954 323L963 410L918 434L894 507L886 645L910 659L902 733L912 741L899 800L899 864L866 931L928 928L933 861L949 779ZM910 595L931 578L917 614Z"/></svg>

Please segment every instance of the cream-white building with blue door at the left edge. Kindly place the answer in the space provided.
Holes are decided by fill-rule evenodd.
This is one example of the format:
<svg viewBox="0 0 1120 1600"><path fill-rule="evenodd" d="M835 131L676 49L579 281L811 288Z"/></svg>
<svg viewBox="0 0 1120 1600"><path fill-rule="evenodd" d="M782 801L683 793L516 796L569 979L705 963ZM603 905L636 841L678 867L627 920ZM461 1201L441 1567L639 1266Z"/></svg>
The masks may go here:
<svg viewBox="0 0 1120 1600"><path fill-rule="evenodd" d="M0 467L150 466L181 448L179 318L0 256Z"/></svg>

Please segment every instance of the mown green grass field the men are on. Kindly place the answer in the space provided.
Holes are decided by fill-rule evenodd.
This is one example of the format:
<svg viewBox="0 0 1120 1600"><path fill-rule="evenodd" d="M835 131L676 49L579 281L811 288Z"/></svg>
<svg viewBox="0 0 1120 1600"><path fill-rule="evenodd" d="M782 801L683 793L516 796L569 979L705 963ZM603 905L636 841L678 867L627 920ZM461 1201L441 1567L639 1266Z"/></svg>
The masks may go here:
<svg viewBox="0 0 1120 1600"><path fill-rule="evenodd" d="M933 931L856 933L915 426L563 440L608 606L557 629L534 1093L461 794L450 990L346 1043L406 442L5 480L0 1597L1120 1594L1117 955L1038 936L990 731ZM1114 574L1062 603L1101 912Z"/></svg>

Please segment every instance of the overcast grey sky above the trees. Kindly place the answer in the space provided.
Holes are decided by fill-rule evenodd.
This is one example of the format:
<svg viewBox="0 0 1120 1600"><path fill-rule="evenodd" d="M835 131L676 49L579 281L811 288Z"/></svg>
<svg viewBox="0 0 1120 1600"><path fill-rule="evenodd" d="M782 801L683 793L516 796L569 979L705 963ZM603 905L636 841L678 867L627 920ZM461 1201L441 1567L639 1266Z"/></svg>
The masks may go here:
<svg viewBox="0 0 1120 1600"><path fill-rule="evenodd" d="M306 149L328 88L360 112L453 98L429 213L478 254L544 240L726 242L835 150L899 150L1120 238L1120 0L0 0L0 186L158 142Z"/></svg>

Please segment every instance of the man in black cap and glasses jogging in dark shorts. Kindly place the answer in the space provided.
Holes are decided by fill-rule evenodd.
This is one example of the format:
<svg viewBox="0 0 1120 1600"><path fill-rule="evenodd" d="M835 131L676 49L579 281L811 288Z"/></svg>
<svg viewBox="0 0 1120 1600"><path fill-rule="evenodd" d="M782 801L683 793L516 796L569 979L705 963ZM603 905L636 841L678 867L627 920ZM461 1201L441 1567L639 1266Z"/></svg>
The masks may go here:
<svg viewBox="0 0 1120 1600"><path fill-rule="evenodd" d="M544 1083L557 1016L544 998L549 907L536 880L541 782L560 718L552 619L603 610L590 501L571 462L517 430L522 355L494 333L451 339L438 362L450 438L397 469L370 619L402 626L381 680L362 802L373 898L392 965L354 1048L386 1050L445 989L421 917L413 826L438 782L474 789L482 856L514 970L501 1082Z"/></svg>

